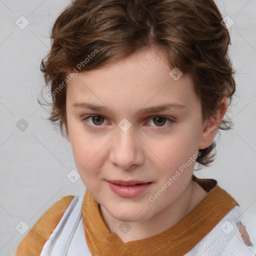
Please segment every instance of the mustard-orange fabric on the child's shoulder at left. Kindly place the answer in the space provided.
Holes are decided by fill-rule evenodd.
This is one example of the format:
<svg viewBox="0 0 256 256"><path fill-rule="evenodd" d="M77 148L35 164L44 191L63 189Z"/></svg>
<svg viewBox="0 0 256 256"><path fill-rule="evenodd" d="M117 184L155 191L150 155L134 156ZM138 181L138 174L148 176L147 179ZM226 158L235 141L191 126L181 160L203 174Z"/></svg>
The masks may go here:
<svg viewBox="0 0 256 256"><path fill-rule="evenodd" d="M66 195L48 208L18 244L14 256L40 255L44 243L57 226L74 195Z"/></svg>

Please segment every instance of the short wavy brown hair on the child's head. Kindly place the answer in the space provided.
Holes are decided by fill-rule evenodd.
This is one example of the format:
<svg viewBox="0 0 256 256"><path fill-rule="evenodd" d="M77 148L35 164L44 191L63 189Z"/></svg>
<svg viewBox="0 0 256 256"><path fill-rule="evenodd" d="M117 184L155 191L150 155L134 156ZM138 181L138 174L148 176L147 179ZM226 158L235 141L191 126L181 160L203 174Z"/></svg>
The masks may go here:
<svg viewBox="0 0 256 256"><path fill-rule="evenodd" d="M48 120L66 134L67 73L97 69L151 46L166 52L170 68L192 74L202 118L208 119L222 97L230 104L235 91L222 19L213 0L73 0L55 20L51 49L40 65L51 91L51 101L45 100L51 107ZM219 128L229 129L230 119ZM199 149L196 161L207 166L214 148L213 140Z"/></svg>

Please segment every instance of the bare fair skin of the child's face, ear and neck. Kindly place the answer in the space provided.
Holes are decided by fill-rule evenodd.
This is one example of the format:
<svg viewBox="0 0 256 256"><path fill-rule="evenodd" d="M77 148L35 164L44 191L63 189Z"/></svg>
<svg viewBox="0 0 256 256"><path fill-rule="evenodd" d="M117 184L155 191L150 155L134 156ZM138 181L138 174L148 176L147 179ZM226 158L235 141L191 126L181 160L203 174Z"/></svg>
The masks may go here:
<svg viewBox="0 0 256 256"><path fill-rule="evenodd" d="M80 72L67 84L66 137L77 171L100 204L107 227L123 242L168 229L207 195L192 181L193 161L154 202L148 199L198 149L210 145L227 108L223 98L219 111L202 121L192 76L182 74L175 81L170 71L164 52L148 48L100 69ZM74 102L103 105L110 112L74 107ZM142 107L163 103L184 107L136 115ZM100 116L85 119L89 114ZM157 122L153 119L157 116L174 121ZM123 118L131 124L127 131L118 126ZM152 183L138 196L123 198L109 188L109 179ZM118 228L123 221L131 226L125 234Z"/></svg>

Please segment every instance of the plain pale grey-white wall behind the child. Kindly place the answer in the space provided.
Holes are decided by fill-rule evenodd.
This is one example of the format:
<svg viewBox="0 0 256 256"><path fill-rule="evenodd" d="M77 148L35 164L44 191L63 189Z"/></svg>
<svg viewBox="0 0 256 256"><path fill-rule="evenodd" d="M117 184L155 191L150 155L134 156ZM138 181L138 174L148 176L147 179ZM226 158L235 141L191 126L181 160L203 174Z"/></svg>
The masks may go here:
<svg viewBox="0 0 256 256"><path fill-rule="evenodd" d="M32 227L55 201L85 191L80 179L72 183L66 177L76 168L71 146L36 99L44 84L39 65L50 47L50 28L68 3L0 0L0 256L13 255L26 225ZM237 70L229 113L234 126L221 132L214 164L196 175L216 179L244 210L256 213L256 1L216 3L223 17L234 21L229 28Z"/></svg>

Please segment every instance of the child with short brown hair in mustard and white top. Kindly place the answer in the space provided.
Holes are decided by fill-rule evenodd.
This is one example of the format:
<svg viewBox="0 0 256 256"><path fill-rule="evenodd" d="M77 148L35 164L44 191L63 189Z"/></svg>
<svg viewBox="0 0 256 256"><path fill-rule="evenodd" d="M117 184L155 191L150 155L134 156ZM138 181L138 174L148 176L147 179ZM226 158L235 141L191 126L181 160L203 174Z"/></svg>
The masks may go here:
<svg viewBox="0 0 256 256"><path fill-rule="evenodd" d="M82 196L55 202L15 256L255 255L256 217L214 179L214 136L235 91L213 0L75 0L41 62L49 120Z"/></svg>

